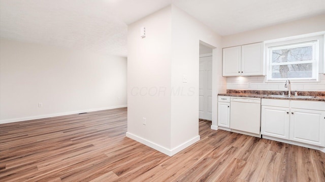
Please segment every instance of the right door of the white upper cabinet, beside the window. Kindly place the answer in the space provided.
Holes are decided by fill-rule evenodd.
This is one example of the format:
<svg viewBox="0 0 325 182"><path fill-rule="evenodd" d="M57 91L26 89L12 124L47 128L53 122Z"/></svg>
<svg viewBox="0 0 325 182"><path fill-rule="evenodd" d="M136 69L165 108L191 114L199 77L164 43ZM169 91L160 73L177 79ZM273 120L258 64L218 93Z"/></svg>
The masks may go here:
<svg viewBox="0 0 325 182"><path fill-rule="evenodd" d="M242 45L242 76L264 74L264 43Z"/></svg>

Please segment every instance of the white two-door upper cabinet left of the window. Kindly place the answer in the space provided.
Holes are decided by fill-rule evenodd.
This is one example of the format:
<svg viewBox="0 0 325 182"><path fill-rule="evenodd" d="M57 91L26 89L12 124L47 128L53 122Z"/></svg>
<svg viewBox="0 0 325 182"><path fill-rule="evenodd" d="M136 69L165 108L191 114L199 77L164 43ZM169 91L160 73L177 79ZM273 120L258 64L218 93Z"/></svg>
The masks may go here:
<svg viewBox="0 0 325 182"><path fill-rule="evenodd" d="M222 49L222 76L262 76L264 43Z"/></svg>

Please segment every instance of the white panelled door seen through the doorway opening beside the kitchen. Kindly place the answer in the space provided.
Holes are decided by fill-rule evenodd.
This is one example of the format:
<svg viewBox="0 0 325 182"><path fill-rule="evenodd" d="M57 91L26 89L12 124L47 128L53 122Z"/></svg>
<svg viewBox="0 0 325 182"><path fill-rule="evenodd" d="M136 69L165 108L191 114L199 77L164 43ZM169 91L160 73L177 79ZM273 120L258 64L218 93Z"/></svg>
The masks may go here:
<svg viewBox="0 0 325 182"><path fill-rule="evenodd" d="M200 58L199 118L212 120L212 56Z"/></svg>

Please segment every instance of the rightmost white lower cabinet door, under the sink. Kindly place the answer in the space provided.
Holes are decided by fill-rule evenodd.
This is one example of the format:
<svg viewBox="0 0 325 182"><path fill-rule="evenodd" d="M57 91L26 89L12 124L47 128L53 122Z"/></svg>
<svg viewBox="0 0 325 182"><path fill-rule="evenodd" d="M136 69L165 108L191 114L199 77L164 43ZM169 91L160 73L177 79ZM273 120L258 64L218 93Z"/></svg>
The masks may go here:
<svg viewBox="0 0 325 182"><path fill-rule="evenodd" d="M290 140L325 147L325 111L291 109Z"/></svg>

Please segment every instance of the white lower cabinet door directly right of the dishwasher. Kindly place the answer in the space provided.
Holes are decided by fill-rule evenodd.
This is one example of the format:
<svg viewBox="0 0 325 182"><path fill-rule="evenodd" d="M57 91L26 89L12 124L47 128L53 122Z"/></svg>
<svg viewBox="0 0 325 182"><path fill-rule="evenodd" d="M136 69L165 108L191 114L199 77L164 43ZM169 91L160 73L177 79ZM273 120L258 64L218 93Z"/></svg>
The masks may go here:
<svg viewBox="0 0 325 182"><path fill-rule="evenodd" d="M261 134L289 139L289 108L262 106Z"/></svg>

